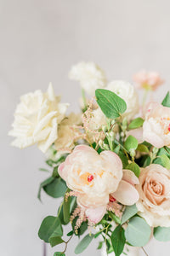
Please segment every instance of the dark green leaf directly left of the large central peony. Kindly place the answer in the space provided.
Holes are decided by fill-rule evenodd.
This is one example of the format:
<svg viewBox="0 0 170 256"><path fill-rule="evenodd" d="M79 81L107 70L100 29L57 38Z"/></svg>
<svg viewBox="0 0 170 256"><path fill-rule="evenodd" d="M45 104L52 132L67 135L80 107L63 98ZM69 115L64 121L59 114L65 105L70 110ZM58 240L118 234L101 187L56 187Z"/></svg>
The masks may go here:
<svg viewBox="0 0 170 256"><path fill-rule="evenodd" d="M59 198L65 195L67 187L65 181L61 177L55 177L51 183L43 186L43 189L48 195L54 198Z"/></svg>

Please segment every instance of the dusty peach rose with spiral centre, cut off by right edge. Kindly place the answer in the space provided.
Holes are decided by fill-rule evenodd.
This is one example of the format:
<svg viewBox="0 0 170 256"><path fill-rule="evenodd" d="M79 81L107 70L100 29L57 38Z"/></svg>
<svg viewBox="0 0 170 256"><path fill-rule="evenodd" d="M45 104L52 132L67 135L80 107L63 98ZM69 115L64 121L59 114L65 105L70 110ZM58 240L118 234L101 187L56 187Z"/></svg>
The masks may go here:
<svg viewBox="0 0 170 256"><path fill-rule="evenodd" d="M170 171L156 164L141 169L136 189L139 215L152 227L170 227Z"/></svg>

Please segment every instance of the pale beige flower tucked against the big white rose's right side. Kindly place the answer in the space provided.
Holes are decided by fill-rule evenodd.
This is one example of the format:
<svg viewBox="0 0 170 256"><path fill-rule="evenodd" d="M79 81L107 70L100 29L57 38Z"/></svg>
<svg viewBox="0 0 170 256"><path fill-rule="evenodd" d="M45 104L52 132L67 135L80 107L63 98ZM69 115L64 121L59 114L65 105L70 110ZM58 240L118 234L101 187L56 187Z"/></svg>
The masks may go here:
<svg viewBox="0 0 170 256"><path fill-rule="evenodd" d="M57 151L62 150L69 152L75 147L74 141L78 132L73 125L80 125L82 123L81 114L71 113L68 118L64 119L58 129L58 139L54 142Z"/></svg>

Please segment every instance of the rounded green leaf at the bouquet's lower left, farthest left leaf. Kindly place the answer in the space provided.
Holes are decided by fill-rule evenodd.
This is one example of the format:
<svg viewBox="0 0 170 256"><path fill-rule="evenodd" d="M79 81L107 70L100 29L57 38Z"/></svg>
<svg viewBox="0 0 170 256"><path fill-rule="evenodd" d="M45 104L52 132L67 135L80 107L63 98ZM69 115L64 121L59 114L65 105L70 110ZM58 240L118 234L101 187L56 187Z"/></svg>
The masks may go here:
<svg viewBox="0 0 170 256"><path fill-rule="evenodd" d="M59 218L54 216L44 218L38 231L38 236L45 242L48 242L50 236L63 236Z"/></svg>

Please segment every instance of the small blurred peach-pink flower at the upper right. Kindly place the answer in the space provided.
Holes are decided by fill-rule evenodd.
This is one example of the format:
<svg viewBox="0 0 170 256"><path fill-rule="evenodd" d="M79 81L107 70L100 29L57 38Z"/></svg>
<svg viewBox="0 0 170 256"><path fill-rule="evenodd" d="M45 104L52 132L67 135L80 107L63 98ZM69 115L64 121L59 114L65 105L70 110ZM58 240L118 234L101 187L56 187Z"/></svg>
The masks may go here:
<svg viewBox="0 0 170 256"><path fill-rule="evenodd" d="M133 81L138 88L144 88L146 90L156 90L158 86L163 84L163 80L156 72L140 71L133 76Z"/></svg>

